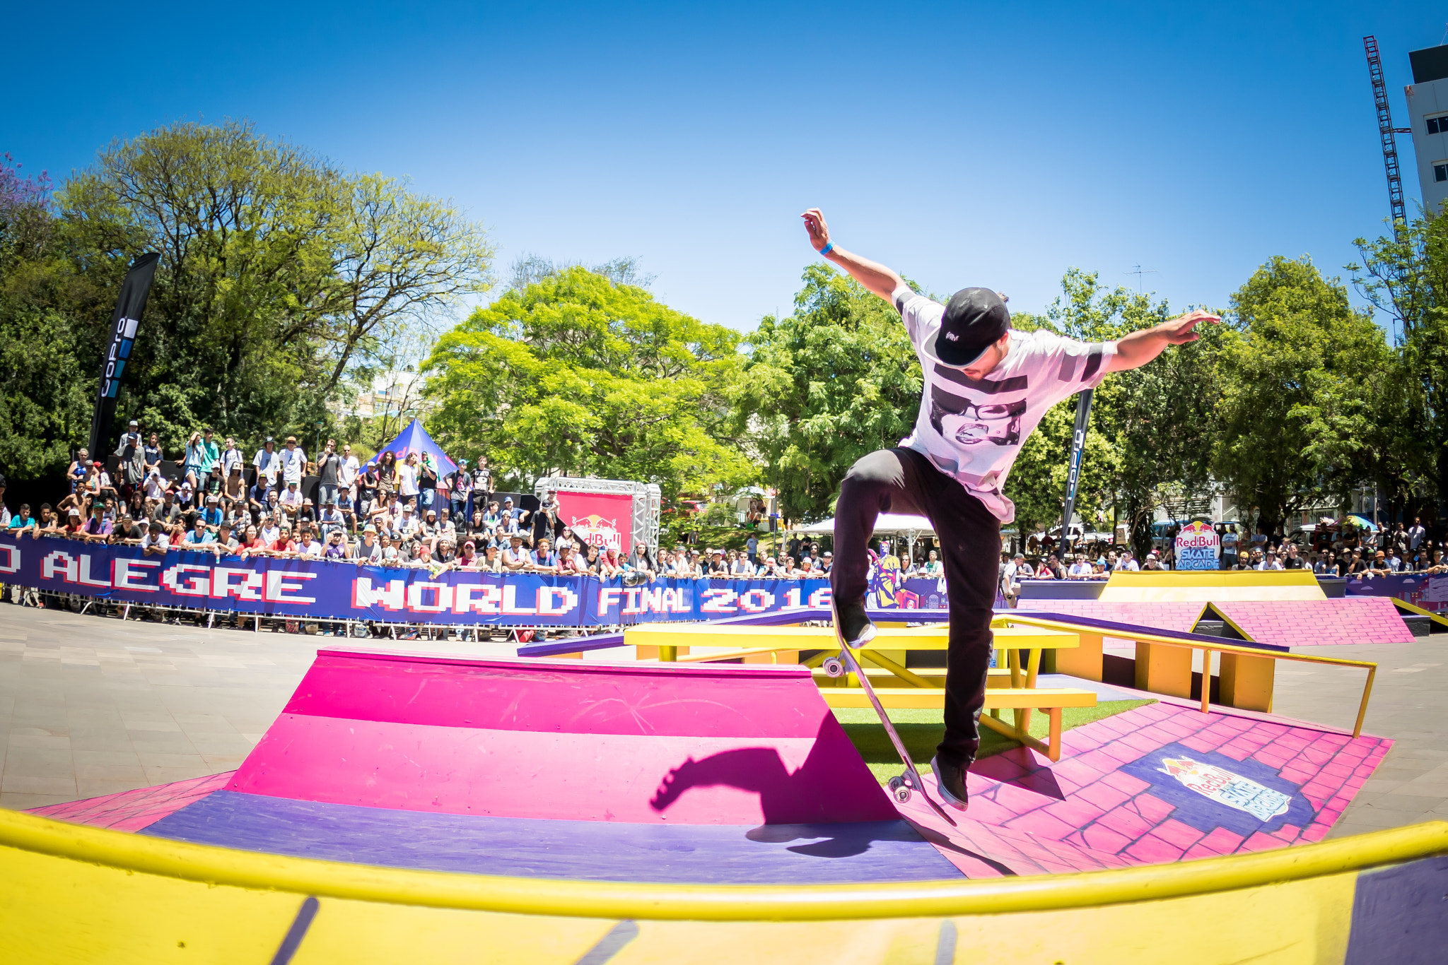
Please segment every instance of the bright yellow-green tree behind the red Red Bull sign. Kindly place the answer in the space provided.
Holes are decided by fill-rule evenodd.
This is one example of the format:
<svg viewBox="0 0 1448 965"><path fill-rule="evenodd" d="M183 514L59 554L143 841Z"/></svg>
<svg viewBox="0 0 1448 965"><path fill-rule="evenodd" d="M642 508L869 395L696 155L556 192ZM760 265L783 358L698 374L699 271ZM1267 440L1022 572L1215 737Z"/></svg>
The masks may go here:
<svg viewBox="0 0 1448 965"><path fill-rule="evenodd" d="M738 334L584 268L536 275L423 365L437 441L527 483L550 470L656 482L665 498L754 477L725 431Z"/></svg>

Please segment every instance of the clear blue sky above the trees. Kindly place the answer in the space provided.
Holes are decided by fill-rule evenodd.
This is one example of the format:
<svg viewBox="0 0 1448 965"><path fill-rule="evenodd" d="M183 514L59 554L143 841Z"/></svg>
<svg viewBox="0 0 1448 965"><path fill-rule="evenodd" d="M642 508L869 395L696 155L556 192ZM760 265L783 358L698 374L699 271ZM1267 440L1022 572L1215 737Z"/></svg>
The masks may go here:
<svg viewBox="0 0 1448 965"><path fill-rule="evenodd" d="M1406 123L1448 7L1302 4L77 4L7 45L0 150L64 175L113 137L249 117L410 175L498 265L637 255L743 330L835 239L1041 310L1069 266L1224 305L1271 255L1383 230L1361 38ZM1264 12L1266 9L1266 12ZM1410 145L1405 182L1416 200Z"/></svg>

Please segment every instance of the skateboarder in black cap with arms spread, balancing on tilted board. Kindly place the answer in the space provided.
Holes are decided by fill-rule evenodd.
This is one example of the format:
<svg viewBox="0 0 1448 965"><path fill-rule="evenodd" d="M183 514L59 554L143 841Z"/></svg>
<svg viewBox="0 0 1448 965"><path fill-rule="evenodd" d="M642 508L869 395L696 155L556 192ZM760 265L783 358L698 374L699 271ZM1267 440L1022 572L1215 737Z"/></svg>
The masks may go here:
<svg viewBox="0 0 1448 965"><path fill-rule="evenodd" d="M946 564L950 651L946 738L931 768L948 804L966 807L966 771L980 747L980 709L990 666L990 611L1001 524L1015 518L1002 493L1011 463L1045 411L1061 399L1200 336L1216 315L1192 311L1119 341L1086 344L1050 331L1012 331L1005 301L963 288L941 305L915 294L889 268L830 240L818 208L804 213L809 243L901 314L924 385L915 430L896 449L860 459L840 483L830 584L840 634L851 647L875 637L864 612L866 544L880 512L928 516Z"/></svg>

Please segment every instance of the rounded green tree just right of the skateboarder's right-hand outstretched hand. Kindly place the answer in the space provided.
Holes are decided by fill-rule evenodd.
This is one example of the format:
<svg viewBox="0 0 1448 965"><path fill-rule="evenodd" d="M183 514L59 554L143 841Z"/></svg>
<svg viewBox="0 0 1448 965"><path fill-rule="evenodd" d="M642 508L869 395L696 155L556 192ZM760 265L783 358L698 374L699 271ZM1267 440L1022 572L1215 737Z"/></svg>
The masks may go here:
<svg viewBox="0 0 1448 965"><path fill-rule="evenodd" d="M1376 425L1396 391L1392 352L1371 315L1306 258L1258 268L1232 295L1232 313L1215 469L1273 532L1371 476L1384 447Z"/></svg>

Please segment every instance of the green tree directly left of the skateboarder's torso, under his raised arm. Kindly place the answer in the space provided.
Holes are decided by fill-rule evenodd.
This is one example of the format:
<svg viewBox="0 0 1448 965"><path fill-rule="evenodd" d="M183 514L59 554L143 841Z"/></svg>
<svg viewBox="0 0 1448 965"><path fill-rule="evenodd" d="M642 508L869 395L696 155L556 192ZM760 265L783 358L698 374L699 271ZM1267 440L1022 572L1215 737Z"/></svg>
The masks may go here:
<svg viewBox="0 0 1448 965"><path fill-rule="evenodd" d="M854 460L915 422L921 373L905 327L847 275L811 265L794 314L766 315L749 341L731 389L736 430L785 518L827 516Z"/></svg>

